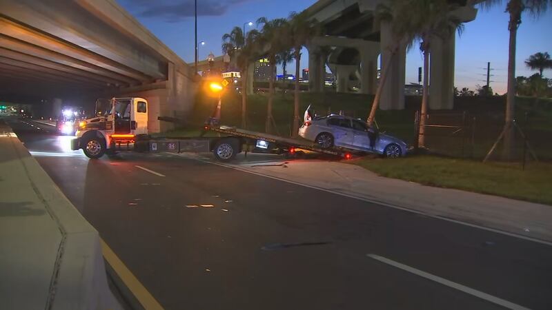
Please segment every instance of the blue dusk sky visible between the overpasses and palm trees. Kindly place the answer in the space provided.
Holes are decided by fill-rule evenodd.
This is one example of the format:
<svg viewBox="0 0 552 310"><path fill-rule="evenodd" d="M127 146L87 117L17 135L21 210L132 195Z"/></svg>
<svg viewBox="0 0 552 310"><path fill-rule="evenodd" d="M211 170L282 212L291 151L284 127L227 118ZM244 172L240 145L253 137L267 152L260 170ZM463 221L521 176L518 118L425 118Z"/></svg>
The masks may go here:
<svg viewBox="0 0 552 310"><path fill-rule="evenodd" d="M188 63L194 61L194 19L193 0L117 0L133 14L146 28L155 34L169 48ZM205 59L209 52L221 54L221 37L233 26L242 27L248 21L259 17L268 19L288 17L292 11L302 11L311 6L313 0L198 0L198 41L206 45L199 48L199 59ZM506 92L508 68L508 14L504 12L506 1L490 10L480 9L477 19L466 23L464 32L456 40L455 85L460 89L484 85L486 63L491 61L491 87L495 92ZM552 54L552 8L533 19L529 14L522 17L517 32L516 76L529 76L534 72L527 69L524 60L535 52ZM255 25L253 26L255 27ZM252 29L246 25L246 30ZM422 54L417 48L406 56L406 83L417 82L417 68L422 66ZM294 64L291 63L291 66ZM308 67L308 55L304 50L301 68ZM279 68L281 71L281 68ZM552 72L545 71L545 76Z"/></svg>

